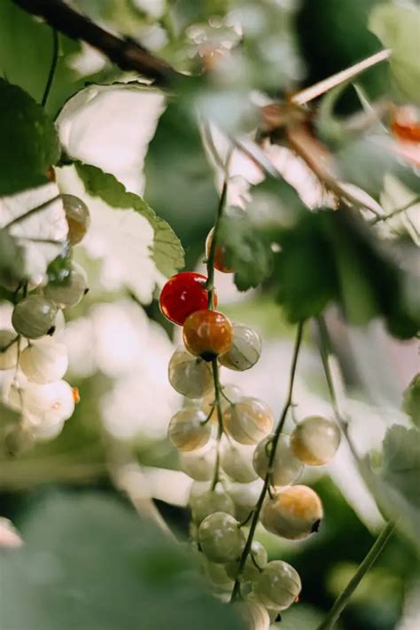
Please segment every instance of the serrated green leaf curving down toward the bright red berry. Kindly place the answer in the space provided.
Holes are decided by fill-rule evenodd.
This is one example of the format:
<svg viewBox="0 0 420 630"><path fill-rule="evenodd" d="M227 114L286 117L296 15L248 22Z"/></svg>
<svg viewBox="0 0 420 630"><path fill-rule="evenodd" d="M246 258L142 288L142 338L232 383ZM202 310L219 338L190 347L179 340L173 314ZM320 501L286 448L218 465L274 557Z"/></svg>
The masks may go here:
<svg viewBox="0 0 420 630"><path fill-rule="evenodd" d="M96 166L75 163L87 193L100 197L113 208L133 209L146 218L154 230L152 257L165 276L172 276L183 268L183 247L169 224L148 206L138 195L128 193L125 187L113 175L104 173Z"/></svg>

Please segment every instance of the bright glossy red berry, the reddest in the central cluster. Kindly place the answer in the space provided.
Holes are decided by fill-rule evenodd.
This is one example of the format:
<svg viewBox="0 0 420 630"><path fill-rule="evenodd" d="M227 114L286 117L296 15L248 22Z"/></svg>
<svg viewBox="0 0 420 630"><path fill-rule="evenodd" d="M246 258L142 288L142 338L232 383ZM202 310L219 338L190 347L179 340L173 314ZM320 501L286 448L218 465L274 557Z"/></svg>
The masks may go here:
<svg viewBox="0 0 420 630"><path fill-rule="evenodd" d="M172 276L160 294L160 311L169 321L183 326L191 313L207 308L206 280L206 276L195 272L181 272ZM215 295L214 304L217 304Z"/></svg>

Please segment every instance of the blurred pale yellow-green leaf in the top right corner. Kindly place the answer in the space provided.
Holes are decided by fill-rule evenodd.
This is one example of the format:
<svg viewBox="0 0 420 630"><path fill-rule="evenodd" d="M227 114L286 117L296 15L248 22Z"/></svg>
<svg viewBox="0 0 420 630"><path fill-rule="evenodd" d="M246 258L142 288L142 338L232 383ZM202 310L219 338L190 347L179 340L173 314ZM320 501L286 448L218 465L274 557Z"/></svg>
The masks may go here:
<svg viewBox="0 0 420 630"><path fill-rule="evenodd" d="M418 35L420 8L416 4L377 4L369 17L369 29L392 49L390 68L401 97L420 105Z"/></svg>

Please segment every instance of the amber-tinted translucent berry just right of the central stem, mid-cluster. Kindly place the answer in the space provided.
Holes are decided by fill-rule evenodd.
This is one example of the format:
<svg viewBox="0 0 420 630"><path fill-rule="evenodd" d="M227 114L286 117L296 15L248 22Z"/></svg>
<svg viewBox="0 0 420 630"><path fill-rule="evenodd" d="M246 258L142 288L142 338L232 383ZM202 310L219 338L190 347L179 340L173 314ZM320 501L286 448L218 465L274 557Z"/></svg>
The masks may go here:
<svg viewBox="0 0 420 630"><path fill-rule="evenodd" d="M273 412L257 398L241 398L223 413L224 429L240 444L257 444L268 435L273 425Z"/></svg>

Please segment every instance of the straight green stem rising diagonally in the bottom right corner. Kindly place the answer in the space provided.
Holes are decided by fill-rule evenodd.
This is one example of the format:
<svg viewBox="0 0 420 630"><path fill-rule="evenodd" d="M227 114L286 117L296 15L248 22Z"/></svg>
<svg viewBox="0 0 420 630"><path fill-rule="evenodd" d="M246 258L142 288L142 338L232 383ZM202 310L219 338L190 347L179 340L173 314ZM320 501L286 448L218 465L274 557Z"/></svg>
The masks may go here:
<svg viewBox="0 0 420 630"><path fill-rule="evenodd" d="M334 602L326 618L324 618L323 622L316 628L316 630L331 630L331 628L336 625L339 616L346 608L346 605L349 602L351 596L354 594L355 589L359 586L372 564L376 562L378 555L381 554L386 543L393 535L394 529L395 524L393 523L388 523L385 525L385 528L379 534L372 547L370 547L368 554L365 555L365 557L363 558L362 563L360 563L359 568L354 573L353 578L349 581L349 583L340 593L340 595L338 595L337 600Z"/></svg>

